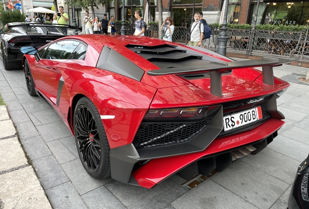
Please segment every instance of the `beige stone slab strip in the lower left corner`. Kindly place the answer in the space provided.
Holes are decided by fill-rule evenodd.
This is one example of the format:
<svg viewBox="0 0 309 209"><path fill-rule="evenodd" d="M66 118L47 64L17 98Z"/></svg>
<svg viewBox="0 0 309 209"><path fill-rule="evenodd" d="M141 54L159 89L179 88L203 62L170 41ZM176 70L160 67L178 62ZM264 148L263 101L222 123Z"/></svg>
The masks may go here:
<svg viewBox="0 0 309 209"><path fill-rule="evenodd" d="M0 209L51 209L4 105L0 127Z"/></svg>

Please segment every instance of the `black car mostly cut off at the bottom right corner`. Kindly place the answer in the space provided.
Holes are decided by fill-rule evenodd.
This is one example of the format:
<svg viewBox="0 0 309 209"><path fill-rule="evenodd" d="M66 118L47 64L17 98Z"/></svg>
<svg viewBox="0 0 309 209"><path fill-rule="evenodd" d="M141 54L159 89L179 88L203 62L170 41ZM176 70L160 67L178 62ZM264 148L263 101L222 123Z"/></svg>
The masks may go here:
<svg viewBox="0 0 309 209"><path fill-rule="evenodd" d="M289 196L288 209L309 209L309 155L298 166Z"/></svg>

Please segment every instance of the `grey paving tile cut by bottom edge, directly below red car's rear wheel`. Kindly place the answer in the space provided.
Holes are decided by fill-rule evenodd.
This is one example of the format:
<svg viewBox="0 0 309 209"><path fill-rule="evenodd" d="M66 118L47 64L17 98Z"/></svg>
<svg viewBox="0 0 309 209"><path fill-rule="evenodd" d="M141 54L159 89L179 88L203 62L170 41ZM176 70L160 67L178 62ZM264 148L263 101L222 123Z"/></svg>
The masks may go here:
<svg viewBox="0 0 309 209"><path fill-rule="evenodd" d="M82 195L89 209L126 209L104 186Z"/></svg>

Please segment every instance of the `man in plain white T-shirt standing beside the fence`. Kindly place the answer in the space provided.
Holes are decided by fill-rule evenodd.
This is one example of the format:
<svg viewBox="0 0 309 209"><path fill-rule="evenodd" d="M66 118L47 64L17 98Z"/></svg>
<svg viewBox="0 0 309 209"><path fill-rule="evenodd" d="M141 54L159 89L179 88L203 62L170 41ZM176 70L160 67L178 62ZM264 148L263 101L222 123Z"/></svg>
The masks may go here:
<svg viewBox="0 0 309 209"><path fill-rule="evenodd" d="M200 22L201 15L199 12L194 14L195 22L191 26L189 45L201 46L204 36L204 25ZM199 27L199 24L201 24Z"/></svg>

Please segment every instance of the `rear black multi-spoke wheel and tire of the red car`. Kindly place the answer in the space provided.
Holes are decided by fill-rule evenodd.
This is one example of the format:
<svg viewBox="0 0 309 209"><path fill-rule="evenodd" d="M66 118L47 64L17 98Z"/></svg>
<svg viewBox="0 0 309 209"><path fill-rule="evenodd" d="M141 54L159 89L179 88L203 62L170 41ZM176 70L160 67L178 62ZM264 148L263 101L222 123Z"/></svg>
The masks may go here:
<svg viewBox="0 0 309 209"><path fill-rule="evenodd" d="M87 173L95 179L109 177L109 143L100 114L88 98L77 102L73 123L77 151Z"/></svg>

